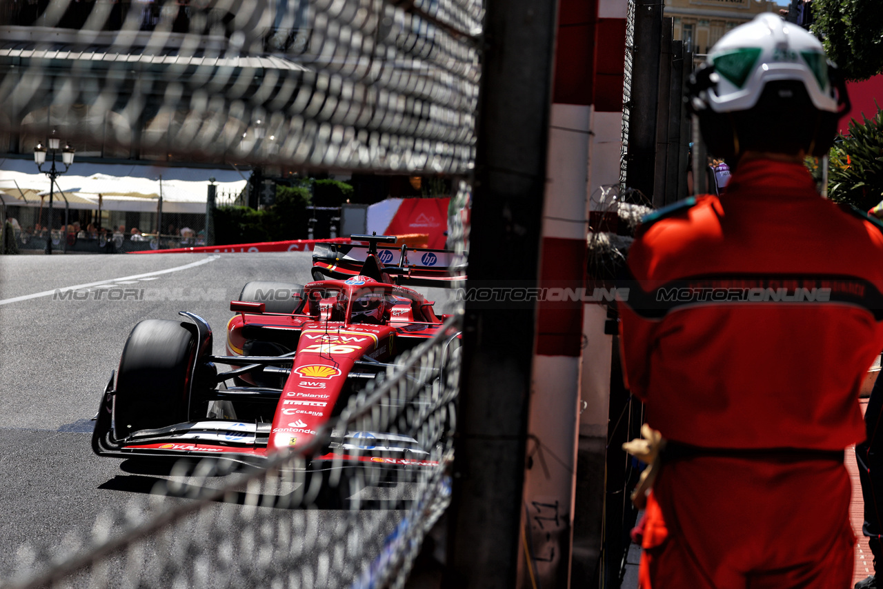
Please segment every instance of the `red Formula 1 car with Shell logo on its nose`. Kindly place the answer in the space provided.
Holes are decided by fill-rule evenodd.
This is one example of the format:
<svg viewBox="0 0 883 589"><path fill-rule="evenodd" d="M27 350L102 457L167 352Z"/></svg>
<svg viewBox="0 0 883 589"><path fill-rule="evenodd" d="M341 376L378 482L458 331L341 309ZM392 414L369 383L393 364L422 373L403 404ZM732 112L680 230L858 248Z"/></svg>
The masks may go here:
<svg viewBox="0 0 883 589"><path fill-rule="evenodd" d="M388 267L377 244L395 238L352 237L368 245L349 278L245 284L240 300L230 303L238 314L227 325L227 356L212 355L211 328L195 314L180 313L189 321L140 321L126 341L116 383L111 375L102 395L94 451L260 464L281 449L312 442L351 396L386 377L398 354L435 336L447 319L397 283L419 275L421 268L406 260L426 251L403 247L396 250L399 264ZM326 254L314 254L314 270L327 267ZM445 358L458 347L457 333L444 337L434 379L443 378ZM233 369L218 374L215 363ZM334 437L336 443L313 454L311 469L330 468L332 460L335 467L435 464L431 449L406 435L347 431Z"/></svg>

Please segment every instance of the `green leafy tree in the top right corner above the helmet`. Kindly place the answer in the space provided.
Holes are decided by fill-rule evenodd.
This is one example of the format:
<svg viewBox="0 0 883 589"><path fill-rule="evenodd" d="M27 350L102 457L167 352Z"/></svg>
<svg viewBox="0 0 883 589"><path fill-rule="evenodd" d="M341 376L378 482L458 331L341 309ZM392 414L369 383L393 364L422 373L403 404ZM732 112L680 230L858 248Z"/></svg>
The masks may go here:
<svg viewBox="0 0 883 589"><path fill-rule="evenodd" d="M879 0L814 0L812 32L846 79L883 72L883 6Z"/></svg>

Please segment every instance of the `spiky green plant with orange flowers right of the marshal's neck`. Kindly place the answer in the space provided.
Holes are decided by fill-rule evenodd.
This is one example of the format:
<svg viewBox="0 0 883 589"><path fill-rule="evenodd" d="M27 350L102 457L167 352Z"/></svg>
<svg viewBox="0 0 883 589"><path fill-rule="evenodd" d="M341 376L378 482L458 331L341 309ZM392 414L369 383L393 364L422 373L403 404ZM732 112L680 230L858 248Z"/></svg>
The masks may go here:
<svg viewBox="0 0 883 589"><path fill-rule="evenodd" d="M849 136L839 137L829 153L828 198L863 211L883 199L883 110L863 123L853 119Z"/></svg>

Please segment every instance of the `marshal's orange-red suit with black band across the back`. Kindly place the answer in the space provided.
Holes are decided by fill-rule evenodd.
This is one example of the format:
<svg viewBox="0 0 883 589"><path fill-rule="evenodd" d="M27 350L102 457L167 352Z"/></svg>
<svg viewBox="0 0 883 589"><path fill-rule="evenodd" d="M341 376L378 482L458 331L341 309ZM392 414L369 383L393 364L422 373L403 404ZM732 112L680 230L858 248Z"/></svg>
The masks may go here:
<svg viewBox="0 0 883 589"><path fill-rule="evenodd" d="M848 586L841 451L883 348L881 226L757 159L651 215L628 268L626 381L681 449L648 501L641 586Z"/></svg>

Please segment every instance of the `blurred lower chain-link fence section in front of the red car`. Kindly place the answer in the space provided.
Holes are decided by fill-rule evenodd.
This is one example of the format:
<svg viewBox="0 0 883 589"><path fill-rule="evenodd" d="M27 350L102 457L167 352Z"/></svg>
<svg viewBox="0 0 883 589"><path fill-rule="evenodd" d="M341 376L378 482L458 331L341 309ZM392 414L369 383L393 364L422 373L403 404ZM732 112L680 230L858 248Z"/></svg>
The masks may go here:
<svg viewBox="0 0 883 589"><path fill-rule="evenodd" d="M351 397L312 443L251 472L211 458L178 462L154 495L103 513L91 532L19 548L4 587L402 586L449 502L459 373L452 318ZM408 436L423 450L403 460L353 432ZM332 466L343 455L373 458L357 470L311 471L309 457L328 449ZM182 498L171 508L170 495Z"/></svg>

